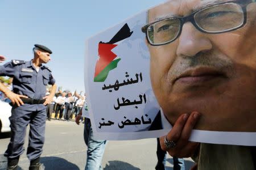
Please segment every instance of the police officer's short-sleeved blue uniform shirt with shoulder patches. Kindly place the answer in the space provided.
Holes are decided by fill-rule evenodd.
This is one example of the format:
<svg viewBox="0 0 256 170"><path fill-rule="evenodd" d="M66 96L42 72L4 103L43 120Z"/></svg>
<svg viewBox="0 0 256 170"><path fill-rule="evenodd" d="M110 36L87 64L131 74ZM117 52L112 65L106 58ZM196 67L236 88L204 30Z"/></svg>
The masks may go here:
<svg viewBox="0 0 256 170"><path fill-rule="evenodd" d="M31 61L13 60L0 66L0 76L13 77L15 94L28 96L31 99L43 99L46 96L47 84L55 84L55 79L46 66L36 71Z"/></svg>

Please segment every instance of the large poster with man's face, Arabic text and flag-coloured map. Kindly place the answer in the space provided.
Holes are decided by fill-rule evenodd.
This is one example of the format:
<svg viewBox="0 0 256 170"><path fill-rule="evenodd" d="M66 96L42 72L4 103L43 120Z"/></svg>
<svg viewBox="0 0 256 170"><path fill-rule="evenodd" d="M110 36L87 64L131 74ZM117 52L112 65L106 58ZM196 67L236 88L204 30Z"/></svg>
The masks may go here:
<svg viewBox="0 0 256 170"><path fill-rule="evenodd" d="M97 137L160 137L196 111L191 141L256 145L255 2L188 4L167 1L87 41Z"/></svg>

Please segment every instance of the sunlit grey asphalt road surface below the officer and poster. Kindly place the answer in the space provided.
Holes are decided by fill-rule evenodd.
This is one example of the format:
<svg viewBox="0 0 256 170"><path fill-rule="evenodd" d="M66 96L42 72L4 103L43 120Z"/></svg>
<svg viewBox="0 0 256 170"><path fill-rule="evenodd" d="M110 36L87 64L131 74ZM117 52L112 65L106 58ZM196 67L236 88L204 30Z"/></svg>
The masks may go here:
<svg viewBox="0 0 256 170"><path fill-rule="evenodd" d="M28 130L28 129L27 129ZM42 163L46 169L84 169L86 146L82 137L83 124L74 121L47 121L46 142ZM27 133L28 134L28 133ZM6 158L3 157L10 141L9 134L0 134L0 169L5 169ZM25 145L27 147L28 138ZM109 141L102 166L105 170L154 169L156 164L156 139L138 141ZM191 159L185 159L186 169L192 166ZM26 150L20 157L20 169L28 169L29 161ZM172 159L167 157L167 169L172 169Z"/></svg>

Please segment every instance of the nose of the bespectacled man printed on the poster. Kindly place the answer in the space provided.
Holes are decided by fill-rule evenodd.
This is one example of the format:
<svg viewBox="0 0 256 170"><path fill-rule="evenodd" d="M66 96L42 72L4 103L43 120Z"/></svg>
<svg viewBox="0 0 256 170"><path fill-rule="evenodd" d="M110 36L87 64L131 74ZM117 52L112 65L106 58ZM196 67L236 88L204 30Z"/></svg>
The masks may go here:
<svg viewBox="0 0 256 170"><path fill-rule="evenodd" d="M183 25L177 46L177 56L195 56L197 53L212 49L212 42L203 32L197 30L190 22Z"/></svg>

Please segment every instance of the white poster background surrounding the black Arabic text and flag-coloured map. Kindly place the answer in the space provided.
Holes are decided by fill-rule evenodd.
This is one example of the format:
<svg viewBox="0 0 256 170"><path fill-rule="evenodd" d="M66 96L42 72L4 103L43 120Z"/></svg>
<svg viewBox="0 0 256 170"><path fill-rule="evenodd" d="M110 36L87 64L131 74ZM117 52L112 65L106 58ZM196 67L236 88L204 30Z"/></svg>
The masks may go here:
<svg viewBox="0 0 256 170"><path fill-rule="evenodd" d="M121 61L119 61L117 68L109 72L105 82L93 82L95 66L98 60L98 43L100 41L109 42L126 23L129 25L131 31L133 31L133 34L128 39L117 42L116 44L118 44L118 46L112 49L112 52L117 54L117 56L121 58ZM146 12L142 12L135 18L128 19L107 31L101 32L86 42L85 91L89 105L89 114L92 118L92 127L98 137L103 135L104 138L107 136L108 139L131 139L131 137L127 138L127 135L134 133L137 137L133 138L140 139L156 137L156 135L160 136L166 134L170 129L162 130L162 133L159 133L159 131L147 131L150 124L125 126L125 128L122 129L118 128L118 123L121 125L121 121L125 121L126 119L134 121L135 118L141 119L141 117L144 116L145 121L149 118L153 121L160 109L150 84L150 55L144 42L144 35L141 32L141 27L145 23ZM119 82L126 80L126 72L129 74L129 77L127 77L129 79L136 79L136 74L142 74L142 82L141 79L139 79L138 83L119 87L118 91L114 89L112 89L112 92L102 90L104 84L109 86L109 84L115 84L116 80ZM135 108L136 105L120 107L118 110L114 109L114 105L117 106L118 98L120 101L122 97L134 101L139 100L139 95L144 94L146 95L146 104L143 102L143 104L137 105L137 109ZM147 117L145 114L147 114ZM105 122L114 122L114 125L102 126L101 129L98 128L100 126L99 123L104 122L101 118L104 118ZM108 136L110 132L114 136L116 132L121 134L116 134L115 137L113 137L113 135Z"/></svg>

